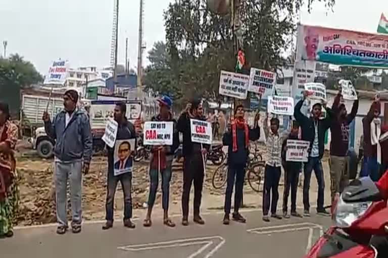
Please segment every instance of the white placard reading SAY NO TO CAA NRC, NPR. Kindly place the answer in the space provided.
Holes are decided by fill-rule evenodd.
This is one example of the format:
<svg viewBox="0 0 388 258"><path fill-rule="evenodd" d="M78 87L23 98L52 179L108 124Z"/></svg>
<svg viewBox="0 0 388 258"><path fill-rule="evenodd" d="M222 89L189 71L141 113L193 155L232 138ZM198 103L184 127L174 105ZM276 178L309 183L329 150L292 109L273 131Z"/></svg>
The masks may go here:
<svg viewBox="0 0 388 258"><path fill-rule="evenodd" d="M144 145L172 145L173 122L145 122Z"/></svg>

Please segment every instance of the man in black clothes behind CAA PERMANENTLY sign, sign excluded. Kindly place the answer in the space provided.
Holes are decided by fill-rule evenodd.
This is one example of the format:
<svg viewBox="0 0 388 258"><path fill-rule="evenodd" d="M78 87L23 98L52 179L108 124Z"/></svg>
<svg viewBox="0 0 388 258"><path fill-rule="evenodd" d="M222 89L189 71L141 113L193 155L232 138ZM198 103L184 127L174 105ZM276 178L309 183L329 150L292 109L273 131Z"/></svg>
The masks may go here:
<svg viewBox="0 0 388 258"><path fill-rule="evenodd" d="M202 199L202 187L204 183L204 156L209 145L193 143L191 141L190 119L206 121L203 116L203 108L200 100L192 100L186 110L178 119L178 131L183 134L183 191L182 191L182 225L188 225L188 201L191 183L194 182L194 217L193 221L198 224L205 224L200 216Z"/></svg>

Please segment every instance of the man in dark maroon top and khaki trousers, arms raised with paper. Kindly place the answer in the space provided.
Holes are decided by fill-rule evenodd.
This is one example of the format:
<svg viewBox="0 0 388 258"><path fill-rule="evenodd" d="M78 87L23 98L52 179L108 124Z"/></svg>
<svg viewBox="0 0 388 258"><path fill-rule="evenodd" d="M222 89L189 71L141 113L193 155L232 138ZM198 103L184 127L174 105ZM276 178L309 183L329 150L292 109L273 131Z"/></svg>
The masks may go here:
<svg viewBox="0 0 388 258"><path fill-rule="evenodd" d="M358 99L353 102L352 111L348 114L345 104L340 104L342 98L341 91L334 98L331 111L333 119L331 120L330 132L330 191L331 202L334 201L335 194L342 192L349 184L349 161L347 155L349 149L350 127L349 124L354 120L358 111Z"/></svg>

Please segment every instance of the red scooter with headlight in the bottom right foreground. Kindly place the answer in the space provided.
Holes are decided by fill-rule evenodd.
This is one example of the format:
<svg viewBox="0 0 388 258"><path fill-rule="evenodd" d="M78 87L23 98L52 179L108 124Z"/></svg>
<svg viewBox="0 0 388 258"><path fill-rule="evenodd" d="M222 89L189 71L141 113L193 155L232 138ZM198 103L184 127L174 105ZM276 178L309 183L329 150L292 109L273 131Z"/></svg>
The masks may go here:
<svg viewBox="0 0 388 258"><path fill-rule="evenodd" d="M330 227L305 258L388 257L388 171L353 180L332 205Z"/></svg>

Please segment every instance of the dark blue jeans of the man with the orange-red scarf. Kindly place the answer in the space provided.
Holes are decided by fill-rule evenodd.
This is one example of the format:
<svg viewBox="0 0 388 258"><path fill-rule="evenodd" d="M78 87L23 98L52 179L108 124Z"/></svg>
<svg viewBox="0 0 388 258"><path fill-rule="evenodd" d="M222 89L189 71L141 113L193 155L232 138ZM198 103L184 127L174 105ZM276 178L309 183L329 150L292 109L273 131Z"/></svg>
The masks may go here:
<svg viewBox="0 0 388 258"><path fill-rule="evenodd" d="M235 193L234 193L234 212L238 213L238 209L241 205L241 200L243 199L243 188L244 188L244 177L245 177L245 167L241 166L230 166L228 169L228 181L226 185L225 192L225 205L224 211L225 214L230 214L230 209L232 205L232 193L233 185L235 178Z"/></svg>

